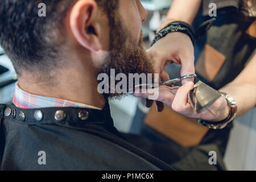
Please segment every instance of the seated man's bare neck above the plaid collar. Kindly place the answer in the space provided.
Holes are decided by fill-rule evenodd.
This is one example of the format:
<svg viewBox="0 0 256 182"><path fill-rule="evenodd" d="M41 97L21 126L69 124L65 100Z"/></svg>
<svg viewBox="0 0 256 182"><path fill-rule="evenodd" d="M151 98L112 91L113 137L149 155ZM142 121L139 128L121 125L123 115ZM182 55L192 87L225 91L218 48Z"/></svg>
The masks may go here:
<svg viewBox="0 0 256 182"><path fill-rule="evenodd" d="M42 79L35 81L35 75L32 73L22 74L19 77L19 86L24 91L39 96L61 98L101 109L105 106L106 101L97 91L97 78L92 69L79 71L69 67L57 71L54 75L57 75L57 78L48 78L47 80L51 80L49 82Z"/></svg>

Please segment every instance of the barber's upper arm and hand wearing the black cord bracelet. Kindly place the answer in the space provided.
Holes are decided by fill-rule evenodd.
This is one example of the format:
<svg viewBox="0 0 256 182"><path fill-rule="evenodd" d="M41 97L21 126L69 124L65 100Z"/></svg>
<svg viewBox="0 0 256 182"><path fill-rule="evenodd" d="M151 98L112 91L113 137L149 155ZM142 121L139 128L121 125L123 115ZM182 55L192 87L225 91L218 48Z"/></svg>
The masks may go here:
<svg viewBox="0 0 256 182"><path fill-rule="evenodd" d="M201 0L174 0L167 19L159 30L174 21L192 24L200 5ZM187 34L172 32L158 40L147 52L152 59L156 73L160 73L162 81L170 80L168 73L164 69L170 63L181 64L180 76L195 73L194 47L191 38ZM158 110L162 111L163 105L160 102L156 102L156 104L158 105ZM151 105L152 101L147 101L147 106Z"/></svg>

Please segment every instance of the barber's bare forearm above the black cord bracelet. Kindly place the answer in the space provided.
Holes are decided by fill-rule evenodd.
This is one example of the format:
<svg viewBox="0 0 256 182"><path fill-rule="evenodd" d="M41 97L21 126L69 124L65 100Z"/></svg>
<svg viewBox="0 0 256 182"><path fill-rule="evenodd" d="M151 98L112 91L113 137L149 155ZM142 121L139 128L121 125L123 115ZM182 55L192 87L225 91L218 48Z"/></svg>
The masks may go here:
<svg viewBox="0 0 256 182"><path fill-rule="evenodd" d="M167 14L167 19L160 28L174 21L183 21L192 24L199 11L201 2L202 0L174 0Z"/></svg>

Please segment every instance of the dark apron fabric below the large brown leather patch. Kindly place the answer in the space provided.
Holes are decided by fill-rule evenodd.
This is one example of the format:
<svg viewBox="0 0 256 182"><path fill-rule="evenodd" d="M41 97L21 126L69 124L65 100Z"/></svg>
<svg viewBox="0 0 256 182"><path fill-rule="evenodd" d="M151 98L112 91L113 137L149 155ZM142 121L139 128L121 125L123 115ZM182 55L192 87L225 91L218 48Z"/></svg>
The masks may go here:
<svg viewBox="0 0 256 182"><path fill-rule="evenodd" d="M212 143L201 143L199 146L183 147L146 125L142 127L141 132L145 137L138 137L138 135L132 134L125 134L125 137L135 146L142 148L176 169L189 171L226 170L222 161L222 152L219 150L218 145L214 143L214 140L209 141ZM210 151L216 152L216 165L209 164Z"/></svg>

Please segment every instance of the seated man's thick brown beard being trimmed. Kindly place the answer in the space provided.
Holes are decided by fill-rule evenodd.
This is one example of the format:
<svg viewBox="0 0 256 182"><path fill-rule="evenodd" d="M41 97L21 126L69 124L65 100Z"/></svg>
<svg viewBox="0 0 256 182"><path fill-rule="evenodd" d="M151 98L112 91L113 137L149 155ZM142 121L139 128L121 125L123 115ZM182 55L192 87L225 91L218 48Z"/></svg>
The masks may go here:
<svg viewBox="0 0 256 182"><path fill-rule="evenodd" d="M116 16L117 17L117 16ZM150 58L147 56L146 50L143 47L143 36L139 38L139 42L133 41L131 33L128 28L122 23L120 18L115 18L114 27L110 32L110 51L106 55L103 64L98 69L98 75L106 73L109 76L110 85L110 70L115 70L115 76L119 73L126 75L127 83L129 82L129 73L154 73L154 68L151 64ZM153 77L153 76L152 76ZM118 81L115 81L115 86ZM141 84L141 80L140 80ZM135 83L133 88L135 88ZM127 95L127 93L104 93L106 100L121 99Z"/></svg>

